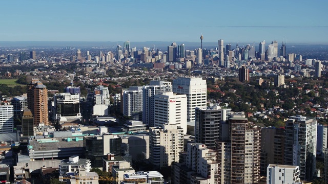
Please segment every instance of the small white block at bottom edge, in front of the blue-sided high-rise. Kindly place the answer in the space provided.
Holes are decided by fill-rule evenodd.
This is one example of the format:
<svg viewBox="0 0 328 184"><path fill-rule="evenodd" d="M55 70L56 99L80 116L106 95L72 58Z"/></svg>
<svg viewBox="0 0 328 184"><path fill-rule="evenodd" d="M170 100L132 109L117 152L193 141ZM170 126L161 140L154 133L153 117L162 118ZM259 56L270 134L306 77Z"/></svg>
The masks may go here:
<svg viewBox="0 0 328 184"><path fill-rule="evenodd" d="M267 183L299 183L299 167L270 164L268 166Z"/></svg>

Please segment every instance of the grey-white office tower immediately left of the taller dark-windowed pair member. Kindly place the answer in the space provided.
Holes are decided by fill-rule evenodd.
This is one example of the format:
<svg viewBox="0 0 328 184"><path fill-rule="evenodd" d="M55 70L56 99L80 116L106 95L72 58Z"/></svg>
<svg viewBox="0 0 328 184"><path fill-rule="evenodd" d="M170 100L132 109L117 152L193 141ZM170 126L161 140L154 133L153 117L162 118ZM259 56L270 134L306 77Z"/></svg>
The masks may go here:
<svg viewBox="0 0 328 184"><path fill-rule="evenodd" d="M134 120L142 120L141 86L130 86L129 90L123 91L123 114Z"/></svg>

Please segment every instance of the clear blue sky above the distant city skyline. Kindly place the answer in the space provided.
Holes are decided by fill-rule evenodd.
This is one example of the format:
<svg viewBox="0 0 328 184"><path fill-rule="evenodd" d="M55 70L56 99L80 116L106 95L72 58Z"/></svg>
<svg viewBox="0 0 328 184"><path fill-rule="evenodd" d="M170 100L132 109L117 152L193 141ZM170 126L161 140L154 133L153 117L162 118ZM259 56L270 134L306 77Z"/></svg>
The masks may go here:
<svg viewBox="0 0 328 184"><path fill-rule="evenodd" d="M0 41L328 44L328 1L2 1Z"/></svg>

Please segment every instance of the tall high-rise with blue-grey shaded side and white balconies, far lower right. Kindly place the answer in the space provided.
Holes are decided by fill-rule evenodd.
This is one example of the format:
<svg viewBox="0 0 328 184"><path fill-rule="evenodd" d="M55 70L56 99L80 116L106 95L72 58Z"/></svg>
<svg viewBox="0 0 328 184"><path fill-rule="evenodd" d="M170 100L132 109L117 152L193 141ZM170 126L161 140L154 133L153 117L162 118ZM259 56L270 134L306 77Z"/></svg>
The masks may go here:
<svg viewBox="0 0 328 184"><path fill-rule="evenodd" d="M299 166L300 179L311 180L316 171L317 120L296 115L285 125L285 165Z"/></svg>

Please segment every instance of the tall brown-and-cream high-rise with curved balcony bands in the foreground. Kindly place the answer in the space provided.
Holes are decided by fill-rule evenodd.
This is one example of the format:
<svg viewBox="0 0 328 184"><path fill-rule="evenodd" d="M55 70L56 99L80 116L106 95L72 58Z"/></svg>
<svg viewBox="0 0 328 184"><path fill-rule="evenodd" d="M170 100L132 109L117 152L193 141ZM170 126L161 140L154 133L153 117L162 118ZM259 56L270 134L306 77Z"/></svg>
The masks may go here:
<svg viewBox="0 0 328 184"><path fill-rule="evenodd" d="M260 180L261 128L243 113L228 120L229 140L218 141L221 183L258 183Z"/></svg>

